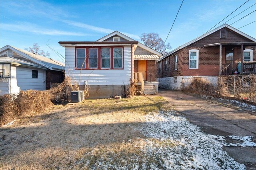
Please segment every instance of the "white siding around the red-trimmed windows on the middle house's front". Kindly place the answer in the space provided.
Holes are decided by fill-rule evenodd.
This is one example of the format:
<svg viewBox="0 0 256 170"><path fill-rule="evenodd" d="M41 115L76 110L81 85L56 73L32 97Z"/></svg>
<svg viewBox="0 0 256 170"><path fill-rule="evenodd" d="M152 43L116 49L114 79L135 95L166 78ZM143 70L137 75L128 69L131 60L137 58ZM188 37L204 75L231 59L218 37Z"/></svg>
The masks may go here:
<svg viewBox="0 0 256 170"><path fill-rule="evenodd" d="M75 79L77 83L81 72L80 85L83 85L84 81L87 81L88 85L128 85L131 78L131 47L124 46L122 70L75 70L75 47L65 48L65 64L66 76Z"/></svg>

